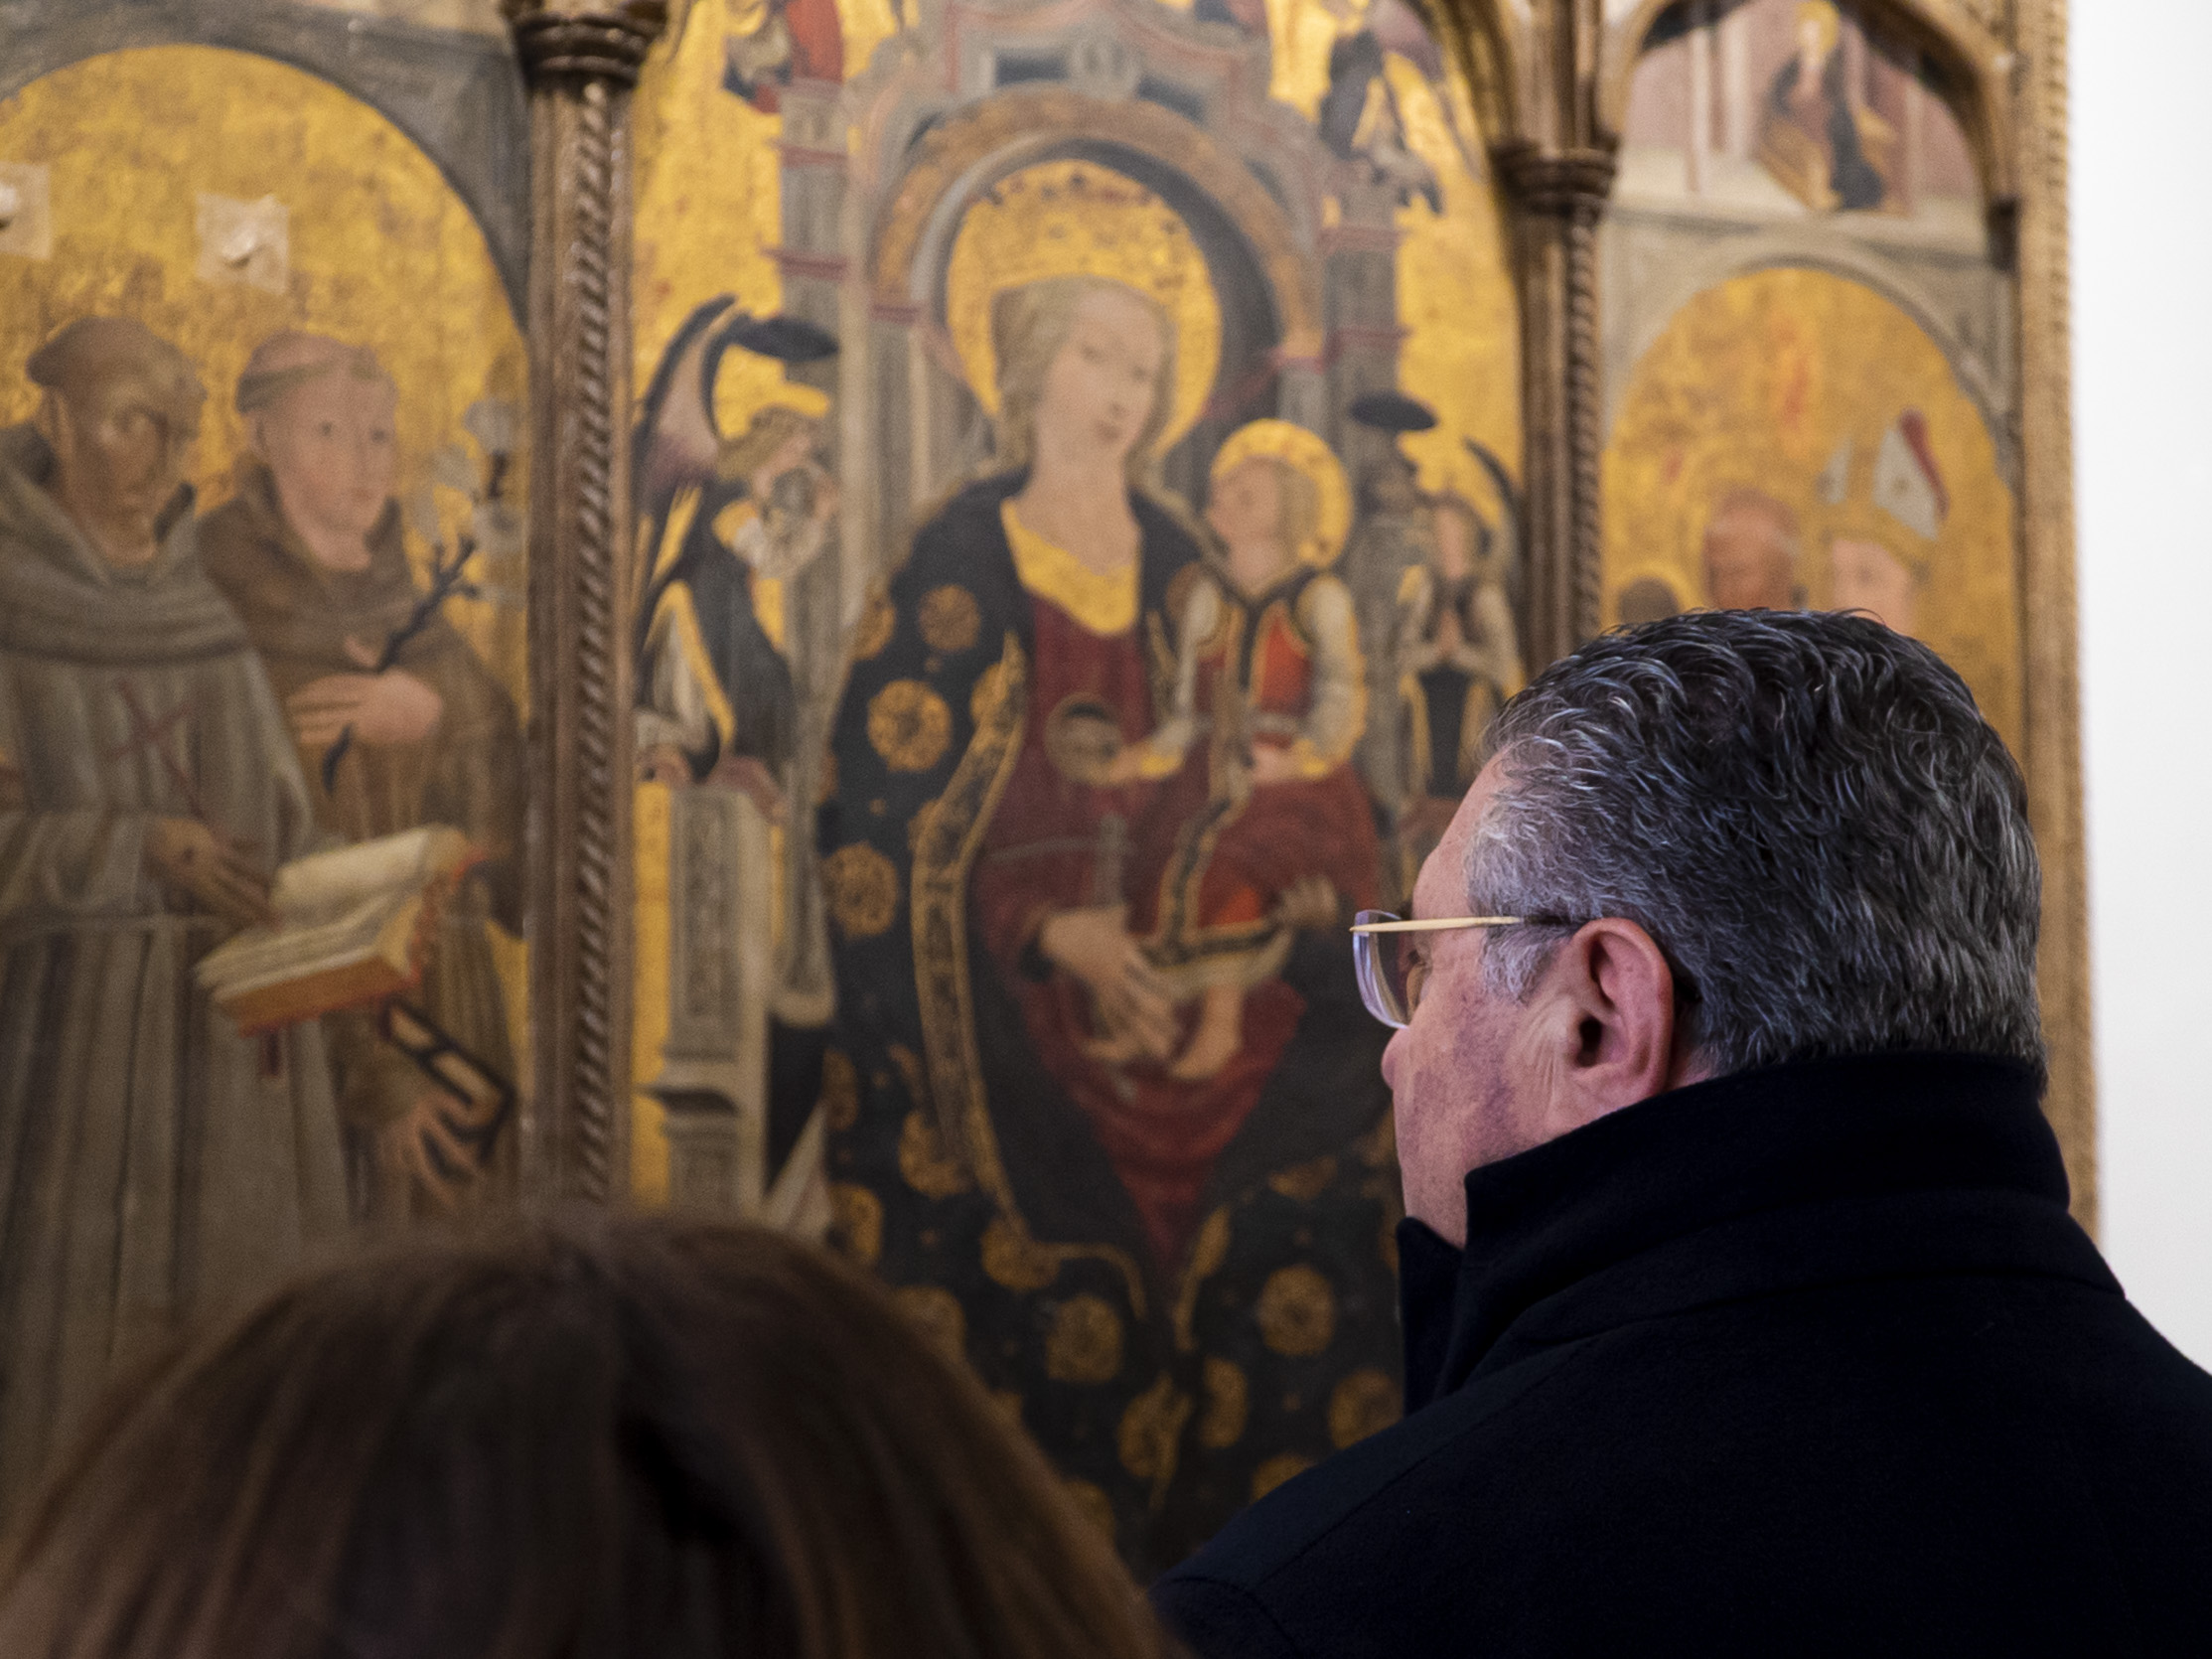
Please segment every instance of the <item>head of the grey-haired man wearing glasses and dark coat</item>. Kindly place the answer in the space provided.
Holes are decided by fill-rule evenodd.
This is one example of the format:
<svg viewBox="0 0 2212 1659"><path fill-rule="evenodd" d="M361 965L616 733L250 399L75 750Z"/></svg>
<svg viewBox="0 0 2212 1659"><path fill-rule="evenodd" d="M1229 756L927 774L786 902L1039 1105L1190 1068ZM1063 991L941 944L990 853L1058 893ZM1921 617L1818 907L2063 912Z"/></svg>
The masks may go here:
<svg viewBox="0 0 2212 1659"><path fill-rule="evenodd" d="M1955 1051L2042 1071L2026 792L1971 692L1869 617L1703 611L1553 664L1420 872L1385 1057L1407 1208L1754 1066Z"/></svg>

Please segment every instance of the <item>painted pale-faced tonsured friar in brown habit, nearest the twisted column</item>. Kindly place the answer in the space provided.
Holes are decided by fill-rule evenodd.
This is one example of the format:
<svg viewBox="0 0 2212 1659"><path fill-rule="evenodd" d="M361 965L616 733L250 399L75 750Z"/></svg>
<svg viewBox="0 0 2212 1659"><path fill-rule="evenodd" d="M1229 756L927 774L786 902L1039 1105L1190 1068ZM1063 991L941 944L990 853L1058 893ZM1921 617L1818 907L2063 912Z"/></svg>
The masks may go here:
<svg viewBox="0 0 2212 1659"><path fill-rule="evenodd" d="M319 334L263 341L239 378L252 460L239 491L199 526L208 575L230 597L283 699L319 823L367 841L451 825L482 863L445 909L422 1011L500 1077L513 1042L487 933L520 933L522 723L467 639L431 617L376 670L407 628L420 588L407 568L398 476L398 387L365 347ZM325 785L323 761L341 734ZM447 1126L445 1095L372 1015L330 1018L338 1106L356 1206L372 1219L484 1197L471 1148ZM493 1152L504 1186L513 1133Z"/></svg>

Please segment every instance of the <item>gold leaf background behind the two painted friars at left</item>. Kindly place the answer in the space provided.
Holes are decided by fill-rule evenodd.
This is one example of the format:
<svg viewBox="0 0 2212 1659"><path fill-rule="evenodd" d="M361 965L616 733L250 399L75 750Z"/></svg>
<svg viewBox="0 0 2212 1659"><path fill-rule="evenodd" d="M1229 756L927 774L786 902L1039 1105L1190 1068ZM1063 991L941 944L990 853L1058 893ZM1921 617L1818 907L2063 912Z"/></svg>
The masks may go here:
<svg viewBox="0 0 2212 1659"><path fill-rule="evenodd" d="M367 104L268 58L144 46L88 58L0 102L0 159L53 168L53 257L0 261L0 422L29 420L24 358L64 323L135 316L175 341L208 387L190 480L199 509L232 493L246 447L232 392L254 345L288 327L367 345L400 389L398 495L460 442L482 396L526 414L529 354L484 237L416 144ZM290 212L290 283L272 294L197 272L195 197ZM524 422L524 431L526 431ZM518 458L511 500L529 500ZM465 502L440 500L449 533ZM409 531L416 564L429 549ZM520 597L524 573L484 571ZM529 708L520 606L453 599L447 615ZM515 1053L526 1055L524 949L493 929Z"/></svg>

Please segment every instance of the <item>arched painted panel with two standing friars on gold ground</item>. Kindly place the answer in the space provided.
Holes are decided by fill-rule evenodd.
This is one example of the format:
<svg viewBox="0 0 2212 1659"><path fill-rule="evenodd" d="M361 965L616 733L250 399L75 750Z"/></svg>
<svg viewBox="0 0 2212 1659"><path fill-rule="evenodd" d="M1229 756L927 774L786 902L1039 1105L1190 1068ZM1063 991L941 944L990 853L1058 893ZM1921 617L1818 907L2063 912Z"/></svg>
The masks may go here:
<svg viewBox="0 0 2212 1659"><path fill-rule="evenodd" d="M299 69L0 102L0 1509L352 1228L511 1194L524 347Z"/></svg>

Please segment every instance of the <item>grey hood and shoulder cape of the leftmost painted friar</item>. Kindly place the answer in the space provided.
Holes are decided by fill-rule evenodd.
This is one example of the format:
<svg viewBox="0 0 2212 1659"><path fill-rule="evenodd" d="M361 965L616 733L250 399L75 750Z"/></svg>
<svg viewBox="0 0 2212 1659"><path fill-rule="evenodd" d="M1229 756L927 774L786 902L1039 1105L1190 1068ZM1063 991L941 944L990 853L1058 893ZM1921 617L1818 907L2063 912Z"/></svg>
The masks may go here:
<svg viewBox="0 0 2212 1659"><path fill-rule="evenodd" d="M175 664L246 650L246 628L199 568L192 489L161 511L161 549L117 568L46 489L53 451L0 431L0 650L100 664Z"/></svg>

